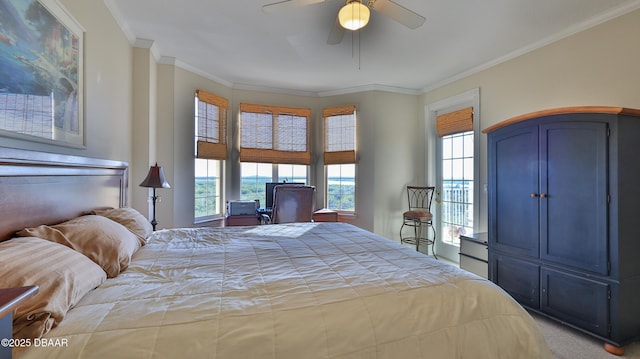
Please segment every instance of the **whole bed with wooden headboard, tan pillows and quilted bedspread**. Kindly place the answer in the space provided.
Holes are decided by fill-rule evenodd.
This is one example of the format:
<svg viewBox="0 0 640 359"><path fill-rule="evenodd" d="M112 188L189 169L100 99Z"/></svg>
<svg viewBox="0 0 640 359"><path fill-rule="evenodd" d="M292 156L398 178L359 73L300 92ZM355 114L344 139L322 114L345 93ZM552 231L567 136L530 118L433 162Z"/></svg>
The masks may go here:
<svg viewBox="0 0 640 359"><path fill-rule="evenodd" d="M44 256L38 246L50 246L74 258L65 268L78 267L80 277L65 274L64 284L77 288L63 291L66 302L60 313L45 315L43 330L25 325L42 318L36 309L18 308L14 326L42 335L38 343L46 344L14 348L15 357L551 357L536 323L500 288L358 227L324 222L150 232L126 207L126 164L0 154L0 195L13 198L0 208L0 275L18 276L8 275L15 271L9 272L3 248L26 258L25 248ZM73 234L81 227L81 235ZM64 236L51 237L51 228ZM127 238L112 265L91 248L103 236ZM81 243L68 243L74 238ZM50 266L39 271L46 278L50 272ZM42 280L36 296L51 292L49 282Z"/></svg>

